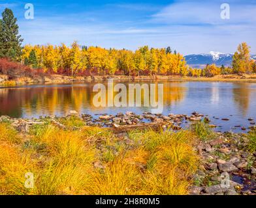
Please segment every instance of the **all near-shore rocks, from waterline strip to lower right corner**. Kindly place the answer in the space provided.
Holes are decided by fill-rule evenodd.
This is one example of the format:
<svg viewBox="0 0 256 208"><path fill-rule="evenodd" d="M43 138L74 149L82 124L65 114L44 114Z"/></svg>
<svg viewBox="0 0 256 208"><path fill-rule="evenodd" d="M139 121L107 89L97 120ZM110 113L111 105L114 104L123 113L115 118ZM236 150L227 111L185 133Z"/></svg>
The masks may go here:
<svg viewBox="0 0 256 208"><path fill-rule="evenodd" d="M193 112L191 115L169 114L168 116L150 112L141 115L126 112L116 115L98 114L97 118L93 118L89 114L79 115L78 112L71 110L69 115L62 118L46 116L45 118L19 119L0 116L0 122L11 123L21 133L28 133L31 125L40 125L45 122L52 122L63 129L78 129L76 125L68 127L61 122L68 118L77 118L87 126L112 129L122 127L138 129L138 127L147 127L146 124L150 123L150 128L154 125L163 129L171 126L172 129L180 130L183 123L189 126L191 123L202 120L208 123L208 127L216 127L210 125L208 116L198 112ZM120 131L118 136L126 138L127 134ZM210 138L199 140L195 151L200 156L201 162L199 170L191 177L195 182L194 186L189 188L189 193L192 195L256 195L256 152L252 153L246 148L248 142L246 133L231 132L215 132Z"/></svg>

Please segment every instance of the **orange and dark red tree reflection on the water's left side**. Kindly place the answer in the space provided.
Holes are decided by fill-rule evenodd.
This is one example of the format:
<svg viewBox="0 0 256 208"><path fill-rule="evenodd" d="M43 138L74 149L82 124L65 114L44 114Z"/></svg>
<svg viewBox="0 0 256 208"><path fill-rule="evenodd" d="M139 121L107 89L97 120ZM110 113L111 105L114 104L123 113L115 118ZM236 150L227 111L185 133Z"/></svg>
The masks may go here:
<svg viewBox="0 0 256 208"><path fill-rule="evenodd" d="M38 117L41 115L61 116L67 114L69 110L76 110L79 113L104 113L109 108L95 107L93 105L93 96L97 94L97 92L93 92L95 84L97 83L0 88L0 114L12 117ZM144 83L139 84L142 85ZM165 82L163 84L164 105L176 104L184 99L186 88L182 86L182 83ZM107 88L107 83L104 83L104 85ZM127 95L129 95L129 83L125 83L125 85L128 90ZM118 92L114 92L114 96L116 94ZM106 98L108 98L108 94L106 94ZM156 100L157 98L158 94L156 93ZM146 98L142 93L142 104L144 99ZM143 106L141 108L144 109ZM116 110L120 111L120 109Z"/></svg>

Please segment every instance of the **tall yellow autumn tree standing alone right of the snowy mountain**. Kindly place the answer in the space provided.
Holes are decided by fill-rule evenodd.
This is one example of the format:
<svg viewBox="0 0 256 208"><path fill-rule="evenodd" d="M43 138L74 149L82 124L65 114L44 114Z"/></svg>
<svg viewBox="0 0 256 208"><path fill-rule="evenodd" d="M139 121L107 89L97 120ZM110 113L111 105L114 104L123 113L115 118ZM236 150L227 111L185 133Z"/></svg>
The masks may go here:
<svg viewBox="0 0 256 208"><path fill-rule="evenodd" d="M237 51L234 53L232 60L232 68L234 73L251 73L253 62L249 55L250 47L243 42L238 45Z"/></svg>

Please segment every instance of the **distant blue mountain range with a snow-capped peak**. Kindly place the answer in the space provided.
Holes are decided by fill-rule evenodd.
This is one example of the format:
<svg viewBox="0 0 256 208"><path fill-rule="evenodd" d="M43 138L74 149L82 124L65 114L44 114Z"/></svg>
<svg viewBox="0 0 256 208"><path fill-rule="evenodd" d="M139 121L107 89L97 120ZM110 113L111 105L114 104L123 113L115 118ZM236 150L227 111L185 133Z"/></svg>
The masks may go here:
<svg viewBox="0 0 256 208"><path fill-rule="evenodd" d="M233 54L210 51L210 53L191 54L185 56L187 64L193 68L204 68L206 64L216 64L217 66L231 66ZM256 55L251 55L251 59L256 60Z"/></svg>

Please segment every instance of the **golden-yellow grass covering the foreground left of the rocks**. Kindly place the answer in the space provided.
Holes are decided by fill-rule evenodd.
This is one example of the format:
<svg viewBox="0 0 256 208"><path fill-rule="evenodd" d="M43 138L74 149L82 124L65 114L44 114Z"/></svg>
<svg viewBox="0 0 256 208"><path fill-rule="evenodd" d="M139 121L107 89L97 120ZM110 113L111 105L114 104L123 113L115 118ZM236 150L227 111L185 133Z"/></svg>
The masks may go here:
<svg viewBox="0 0 256 208"><path fill-rule="evenodd" d="M191 131L130 132L129 144L97 127L35 125L19 142L0 128L0 194L187 194L197 169ZM24 187L27 172L34 188Z"/></svg>

